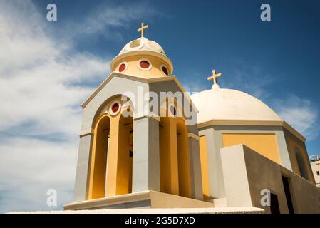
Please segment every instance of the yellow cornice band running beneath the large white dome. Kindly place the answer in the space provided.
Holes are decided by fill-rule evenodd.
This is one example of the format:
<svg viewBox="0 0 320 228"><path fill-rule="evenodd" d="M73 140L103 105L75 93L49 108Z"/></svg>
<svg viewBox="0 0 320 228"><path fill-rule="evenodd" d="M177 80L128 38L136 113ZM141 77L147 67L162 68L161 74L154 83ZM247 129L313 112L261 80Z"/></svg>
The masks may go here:
<svg viewBox="0 0 320 228"><path fill-rule="evenodd" d="M197 126L198 128L205 128L212 125L281 126L289 130L291 134L299 138L302 142L306 142L306 138L284 120L209 120L198 123Z"/></svg>

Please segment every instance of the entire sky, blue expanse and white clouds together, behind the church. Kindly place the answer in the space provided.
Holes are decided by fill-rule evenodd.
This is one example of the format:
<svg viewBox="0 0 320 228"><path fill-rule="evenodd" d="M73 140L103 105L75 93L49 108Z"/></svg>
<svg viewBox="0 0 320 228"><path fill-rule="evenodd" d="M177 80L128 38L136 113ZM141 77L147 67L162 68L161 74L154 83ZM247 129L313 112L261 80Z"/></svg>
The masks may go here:
<svg viewBox="0 0 320 228"><path fill-rule="evenodd" d="M58 21L46 21L49 3ZM272 21L260 20L263 3ZM319 9L310 0L0 1L0 212L71 201L80 105L143 21L187 90L209 89L215 68L222 88L263 100L319 153ZM46 206L48 188L58 207Z"/></svg>

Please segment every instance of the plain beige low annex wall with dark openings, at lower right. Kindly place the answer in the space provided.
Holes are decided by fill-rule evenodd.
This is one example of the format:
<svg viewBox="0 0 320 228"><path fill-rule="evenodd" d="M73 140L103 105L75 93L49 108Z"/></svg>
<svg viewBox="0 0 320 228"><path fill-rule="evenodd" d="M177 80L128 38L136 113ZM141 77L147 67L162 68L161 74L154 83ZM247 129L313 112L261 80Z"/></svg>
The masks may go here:
<svg viewBox="0 0 320 228"><path fill-rule="evenodd" d="M289 213L284 176L289 180L294 212L320 212L320 189L303 177L244 145L222 148L221 154L228 207L260 207L270 212L261 203L265 202L262 190L269 190L277 195L280 212Z"/></svg>

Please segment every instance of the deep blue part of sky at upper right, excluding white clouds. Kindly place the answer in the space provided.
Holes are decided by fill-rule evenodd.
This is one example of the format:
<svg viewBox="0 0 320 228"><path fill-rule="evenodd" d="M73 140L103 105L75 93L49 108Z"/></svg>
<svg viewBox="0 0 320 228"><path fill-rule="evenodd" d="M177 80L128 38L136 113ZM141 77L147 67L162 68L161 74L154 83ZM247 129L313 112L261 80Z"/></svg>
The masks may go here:
<svg viewBox="0 0 320 228"><path fill-rule="evenodd" d="M46 9L51 2L35 1L39 10ZM105 30L102 27L97 33L78 37L75 44L78 50L112 58L125 43L139 37L136 29L142 20L149 25L146 37L165 48L174 63L174 74L187 88L210 88L206 78L212 68L217 68L224 74L220 80L222 86L247 90L259 95L270 106L275 105L274 99L288 99L288 95L294 95L309 100L315 112L319 110L319 1L54 3L58 6L58 21L47 25L53 31L71 21L83 21L83 16L94 14L101 6L145 11L145 15L133 13L132 19L123 20L118 26L105 26ZM263 3L271 6L272 21L259 19ZM45 16L47 11L41 13ZM286 105L291 102L294 100L289 99ZM308 142L309 153L319 152L319 145L320 140Z"/></svg>

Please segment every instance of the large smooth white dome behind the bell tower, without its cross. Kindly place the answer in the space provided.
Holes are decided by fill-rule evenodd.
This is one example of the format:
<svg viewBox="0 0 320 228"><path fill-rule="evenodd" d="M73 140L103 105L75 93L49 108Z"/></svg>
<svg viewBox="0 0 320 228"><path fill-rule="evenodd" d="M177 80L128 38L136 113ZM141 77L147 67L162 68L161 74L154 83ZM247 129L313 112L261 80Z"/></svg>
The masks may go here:
<svg viewBox="0 0 320 228"><path fill-rule="evenodd" d="M191 95L198 123L210 120L281 120L261 100L238 90L213 88Z"/></svg>

